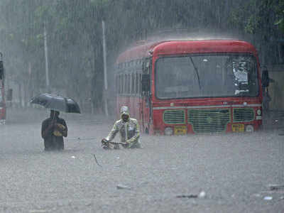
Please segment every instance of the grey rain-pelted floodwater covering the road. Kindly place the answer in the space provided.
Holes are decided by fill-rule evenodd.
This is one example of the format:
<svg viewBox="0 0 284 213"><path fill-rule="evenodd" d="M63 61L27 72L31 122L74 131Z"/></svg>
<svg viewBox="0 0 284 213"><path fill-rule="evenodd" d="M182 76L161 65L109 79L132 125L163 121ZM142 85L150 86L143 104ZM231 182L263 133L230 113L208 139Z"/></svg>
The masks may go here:
<svg viewBox="0 0 284 213"><path fill-rule="evenodd" d="M141 149L104 151L100 141L114 120L62 114L69 130L65 151L45 152L40 124L46 116L27 113L0 126L0 212L284 209L284 191L269 187L284 185L284 136L278 129L142 135Z"/></svg>

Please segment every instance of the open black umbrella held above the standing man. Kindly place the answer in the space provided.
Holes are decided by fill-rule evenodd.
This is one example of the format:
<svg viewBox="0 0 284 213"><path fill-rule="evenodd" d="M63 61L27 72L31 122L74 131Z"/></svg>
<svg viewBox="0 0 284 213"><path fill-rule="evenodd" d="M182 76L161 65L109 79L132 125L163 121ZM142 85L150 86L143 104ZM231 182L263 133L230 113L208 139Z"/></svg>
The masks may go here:
<svg viewBox="0 0 284 213"><path fill-rule="evenodd" d="M31 104L39 104L45 108L70 113L80 113L79 105L71 98L55 94L43 93L31 99Z"/></svg>

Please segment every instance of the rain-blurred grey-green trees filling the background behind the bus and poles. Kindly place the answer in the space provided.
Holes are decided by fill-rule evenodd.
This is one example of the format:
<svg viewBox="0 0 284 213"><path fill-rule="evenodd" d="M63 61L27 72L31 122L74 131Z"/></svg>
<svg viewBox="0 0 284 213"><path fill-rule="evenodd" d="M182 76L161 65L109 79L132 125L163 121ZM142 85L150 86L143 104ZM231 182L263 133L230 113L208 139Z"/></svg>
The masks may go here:
<svg viewBox="0 0 284 213"><path fill-rule="evenodd" d="M121 50L167 33L234 35L256 46L262 65L283 63L284 0L1 0L0 49L23 103L46 91L45 25L51 89L102 108L103 19L110 80Z"/></svg>

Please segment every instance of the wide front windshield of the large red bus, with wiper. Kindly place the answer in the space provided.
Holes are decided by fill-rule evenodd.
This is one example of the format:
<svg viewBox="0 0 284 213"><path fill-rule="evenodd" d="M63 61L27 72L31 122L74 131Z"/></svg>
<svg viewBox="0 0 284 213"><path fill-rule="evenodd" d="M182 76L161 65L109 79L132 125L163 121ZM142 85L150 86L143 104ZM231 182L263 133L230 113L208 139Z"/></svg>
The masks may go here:
<svg viewBox="0 0 284 213"><path fill-rule="evenodd" d="M256 58L249 54L162 57L155 62L158 99L256 97Z"/></svg>

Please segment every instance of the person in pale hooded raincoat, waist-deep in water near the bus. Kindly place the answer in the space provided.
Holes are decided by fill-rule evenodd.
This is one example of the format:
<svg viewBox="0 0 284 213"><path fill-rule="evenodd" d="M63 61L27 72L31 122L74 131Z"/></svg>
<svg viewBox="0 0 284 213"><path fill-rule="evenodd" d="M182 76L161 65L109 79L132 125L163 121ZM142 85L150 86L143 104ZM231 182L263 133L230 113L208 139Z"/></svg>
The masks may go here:
<svg viewBox="0 0 284 213"><path fill-rule="evenodd" d="M116 133L120 133L121 143L124 148L141 148L139 143L139 125L136 119L132 119L129 116L129 108L124 106L121 107L121 119L114 123L114 127L111 129L111 132L107 138L102 139L102 146L105 149L114 148L118 149L119 144L111 145L108 143L116 136Z"/></svg>

